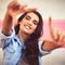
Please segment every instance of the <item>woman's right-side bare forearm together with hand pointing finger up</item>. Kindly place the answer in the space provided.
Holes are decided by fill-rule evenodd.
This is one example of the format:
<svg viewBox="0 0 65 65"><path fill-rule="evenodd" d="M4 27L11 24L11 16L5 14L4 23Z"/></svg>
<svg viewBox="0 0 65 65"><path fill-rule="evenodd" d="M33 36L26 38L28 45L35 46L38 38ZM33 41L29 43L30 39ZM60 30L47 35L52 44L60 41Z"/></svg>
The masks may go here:
<svg viewBox="0 0 65 65"><path fill-rule="evenodd" d="M43 40L43 38L41 38L40 40L43 40L44 42L42 43L42 49L46 51L51 51L54 50L56 48L62 47L65 43L65 35L63 35L61 31L56 31L54 30L54 28L52 28L52 18L49 17L49 28L50 28L50 35L51 35L51 40Z"/></svg>

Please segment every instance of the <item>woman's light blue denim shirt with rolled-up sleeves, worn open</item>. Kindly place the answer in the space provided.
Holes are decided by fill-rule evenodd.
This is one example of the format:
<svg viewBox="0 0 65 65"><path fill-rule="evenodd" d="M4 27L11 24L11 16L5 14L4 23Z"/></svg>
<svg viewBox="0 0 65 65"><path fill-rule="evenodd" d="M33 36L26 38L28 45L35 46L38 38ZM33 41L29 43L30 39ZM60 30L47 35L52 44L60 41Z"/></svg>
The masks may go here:
<svg viewBox="0 0 65 65"><path fill-rule="evenodd" d="M2 65L16 65L20 57L22 56L22 49L25 48L24 41L21 42L17 35L15 35L14 29L12 29L12 34L10 36L4 36L0 30L0 44L2 44L3 49L3 61ZM50 52L43 51L41 49L42 41L38 42L39 51L41 55L48 54ZM39 65L41 65L41 57L39 57Z"/></svg>

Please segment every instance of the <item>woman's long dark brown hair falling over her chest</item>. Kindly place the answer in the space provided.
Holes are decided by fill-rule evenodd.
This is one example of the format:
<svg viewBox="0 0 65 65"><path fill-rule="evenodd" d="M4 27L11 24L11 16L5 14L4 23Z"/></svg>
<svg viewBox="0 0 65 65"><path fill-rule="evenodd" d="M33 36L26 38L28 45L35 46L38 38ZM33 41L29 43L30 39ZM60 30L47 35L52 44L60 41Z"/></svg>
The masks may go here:
<svg viewBox="0 0 65 65"><path fill-rule="evenodd" d="M30 37L25 40L25 46L26 46L26 49L24 51L24 54L25 54L25 57L27 58L28 61L28 64L29 65L39 65L39 61L38 61L38 55L39 55L39 48L38 48L38 39L39 37L42 36L42 26L43 26L43 21L42 21L42 17L40 15L39 12L37 11L31 11L34 12L36 15L38 15L39 17L39 23L38 23L38 26L35 30L35 32L32 32L30 35ZM29 13L29 12L26 12L24 13L20 18L18 18L18 22L21 22L25 15ZM16 35L18 34L18 30L20 30L20 24L17 23L17 25L15 26L15 32Z"/></svg>

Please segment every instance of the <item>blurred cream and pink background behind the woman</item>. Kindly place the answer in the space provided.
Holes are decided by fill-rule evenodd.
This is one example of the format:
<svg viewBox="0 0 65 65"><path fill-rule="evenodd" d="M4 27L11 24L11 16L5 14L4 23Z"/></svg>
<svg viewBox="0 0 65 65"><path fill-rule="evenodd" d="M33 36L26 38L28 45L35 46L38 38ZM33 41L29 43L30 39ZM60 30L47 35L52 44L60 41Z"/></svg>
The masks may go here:
<svg viewBox="0 0 65 65"><path fill-rule="evenodd" d="M0 0L0 28L6 12L8 4L13 0ZM48 38L48 18L52 17L52 25L65 32L65 0L17 0L21 4L28 4L27 8L36 8L43 18L43 37ZM47 30L46 30L47 29ZM2 49L0 48L0 65L2 63ZM51 54L42 56L42 65L65 65L65 49L53 50Z"/></svg>

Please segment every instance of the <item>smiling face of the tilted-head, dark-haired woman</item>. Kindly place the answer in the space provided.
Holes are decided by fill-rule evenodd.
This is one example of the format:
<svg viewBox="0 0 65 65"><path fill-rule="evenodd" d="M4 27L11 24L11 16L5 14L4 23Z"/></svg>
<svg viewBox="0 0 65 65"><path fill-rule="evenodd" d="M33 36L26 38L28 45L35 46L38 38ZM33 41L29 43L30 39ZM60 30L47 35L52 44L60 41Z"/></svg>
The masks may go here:
<svg viewBox="0 0 65 65"><path fill-rule="evenodd" d="M38 23L39 17L34 12L29 12L20 22L20 30L30 35L36 30Z"/></svg>

